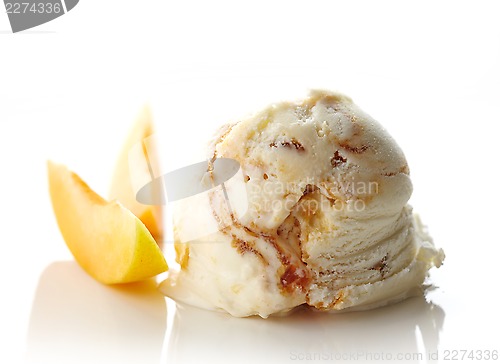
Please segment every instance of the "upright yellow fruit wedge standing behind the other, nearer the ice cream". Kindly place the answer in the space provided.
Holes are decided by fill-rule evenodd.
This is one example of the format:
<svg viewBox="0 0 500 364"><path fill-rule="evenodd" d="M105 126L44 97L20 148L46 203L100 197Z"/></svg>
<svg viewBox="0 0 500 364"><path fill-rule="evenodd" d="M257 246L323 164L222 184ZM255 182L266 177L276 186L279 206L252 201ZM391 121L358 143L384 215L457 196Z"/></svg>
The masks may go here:
<svg viewBox="0 0 500 364"><path fill-rule="evenodd" d="M137 187L148 183L152 179L151 174L159 168L158 153L151 137L153 134L151 111L149 107L144 107L118 157L109 199L120 201L146 225L155 240L161 242L163 235L161 205L143 205L136 199ZM159 194L161 191L154 193Z"/></svg>

